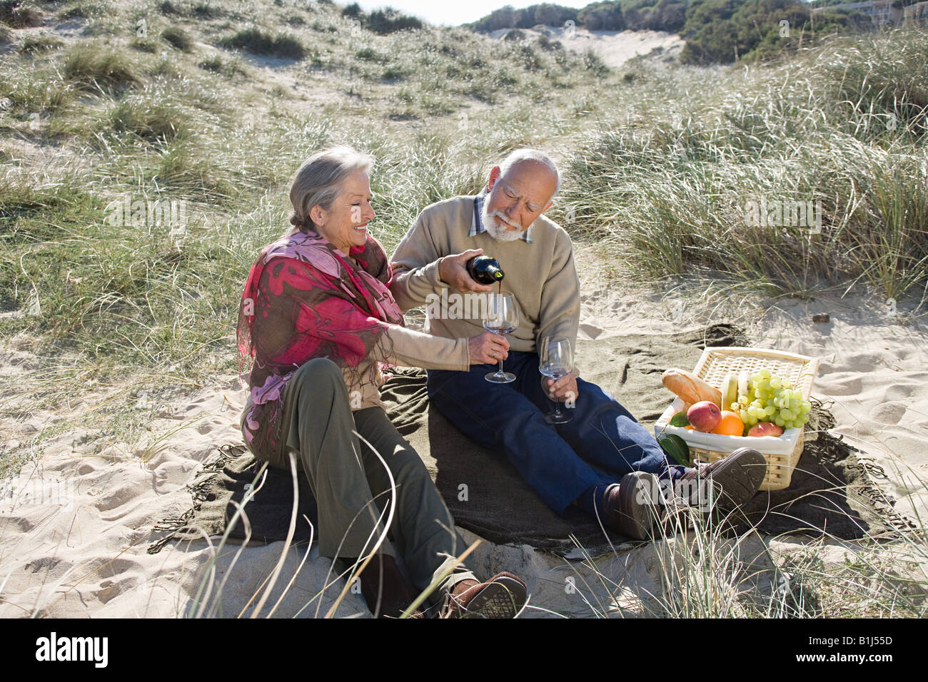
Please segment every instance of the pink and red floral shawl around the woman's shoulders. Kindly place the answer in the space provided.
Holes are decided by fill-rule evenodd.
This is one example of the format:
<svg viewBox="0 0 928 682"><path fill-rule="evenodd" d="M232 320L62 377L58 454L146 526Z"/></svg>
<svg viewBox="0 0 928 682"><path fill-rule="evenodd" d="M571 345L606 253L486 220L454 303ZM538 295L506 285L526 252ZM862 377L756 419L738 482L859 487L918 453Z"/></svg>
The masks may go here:
<svg viewBox="0 0 928 682"><path fill-rule="evenodd" d="M375 348L384 357L384 332L403 324L380 243L368 235L349 253L357 264L316 233L294 232L264 247L251 265L237 338L239 371L252 360L244 434L256 457L280 453L284 389L296 369L315 357L356 369Z"/></svg>

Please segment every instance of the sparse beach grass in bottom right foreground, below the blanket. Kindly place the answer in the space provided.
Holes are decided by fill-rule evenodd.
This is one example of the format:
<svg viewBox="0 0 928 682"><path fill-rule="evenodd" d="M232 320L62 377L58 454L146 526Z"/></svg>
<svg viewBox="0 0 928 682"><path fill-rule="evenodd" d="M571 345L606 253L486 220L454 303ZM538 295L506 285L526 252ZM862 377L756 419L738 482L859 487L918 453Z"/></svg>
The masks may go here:
<svg viewBox="0 0 928 682"><path fill-rule="evenodd" d="M909 480L924 483L907 468ZM854 495L850 491L849 495ZM788 509L774 508L774 513ZM916 528L864 528L846 540L820 534L731 532L738 511L684 508L634 558L615 547L592 556L579 546L576 601L562 616L600 618L923 618L928 613L928 536ZM655 514L655 522L659 517ZM629 562L644 561L647 575Z"/></svg>

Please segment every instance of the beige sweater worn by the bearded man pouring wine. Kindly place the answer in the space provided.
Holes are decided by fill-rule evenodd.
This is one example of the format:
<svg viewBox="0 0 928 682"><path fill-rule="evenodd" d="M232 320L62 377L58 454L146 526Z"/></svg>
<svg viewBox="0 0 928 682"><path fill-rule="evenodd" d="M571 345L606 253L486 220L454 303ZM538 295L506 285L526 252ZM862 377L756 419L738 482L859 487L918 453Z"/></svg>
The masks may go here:
<svg viewBox="0 0 928 682"><path fill-rule="evenodd" d="M465 298L438 277L442 256L483 249L506 273L502 290L515 295L519 308L519 327L508 337L510 349L535 351L535 342L546 336L565 336L574 344L580 281L567 232L542 215L532 227L531 244L497 241L487 232L470 237L473 200L454 197L426 207L396 247L390 291L400 308L427 305L429 332L446 339L483 332L476 294Z"/></svg>

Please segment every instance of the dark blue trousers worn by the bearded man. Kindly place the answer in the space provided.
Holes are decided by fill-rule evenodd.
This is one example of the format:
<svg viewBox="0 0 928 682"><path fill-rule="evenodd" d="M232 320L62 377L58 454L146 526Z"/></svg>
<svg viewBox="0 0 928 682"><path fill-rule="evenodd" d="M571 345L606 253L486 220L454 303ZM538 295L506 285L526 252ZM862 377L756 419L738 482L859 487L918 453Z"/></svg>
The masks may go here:
<svg viewBox="0 0 928 682"><path fill-rule="evenodd" d="M541 386L538 355L509 351L503 367L516 375L511 383L483 379L497 367L430 369L429 398L465 435L505 452L558 514L591 486L618 483L630 471L672 481L683 475L685 469L667 460L651 433L596 384L577 379L579 394L570 409L574 418L548 424L545 414L554 404Z"/></svg>

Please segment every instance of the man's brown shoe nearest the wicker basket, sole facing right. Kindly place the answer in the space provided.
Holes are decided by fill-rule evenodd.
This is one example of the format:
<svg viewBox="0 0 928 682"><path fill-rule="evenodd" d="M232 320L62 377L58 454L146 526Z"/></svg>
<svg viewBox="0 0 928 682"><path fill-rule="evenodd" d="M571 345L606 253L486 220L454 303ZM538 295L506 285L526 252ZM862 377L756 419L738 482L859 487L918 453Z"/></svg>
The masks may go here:
<svg viewBox="0 0 928 682"><path fill-rule="evenodd" d="M675 483L677 495L688 504L715 505L731 510L749 502L767 475L767 459L753 447L740 447L730 455L687 471Z"/></svg>

